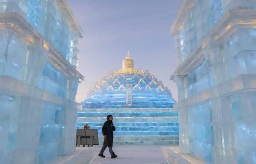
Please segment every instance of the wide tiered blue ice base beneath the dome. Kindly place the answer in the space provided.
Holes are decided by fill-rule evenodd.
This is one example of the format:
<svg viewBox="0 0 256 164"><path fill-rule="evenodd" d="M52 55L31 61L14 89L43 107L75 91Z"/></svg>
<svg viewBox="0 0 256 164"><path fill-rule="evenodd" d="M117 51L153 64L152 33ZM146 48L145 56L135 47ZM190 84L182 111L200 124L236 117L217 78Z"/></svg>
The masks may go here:
<svg viewBox="0 0 256 164"><path fill-rule="evenodd" d="M101 144L101 128L108 114L116 126L114 144L178 144L178 112L172 108L83 109L78 112L77 128L88 124L98 129Z"/></svg>

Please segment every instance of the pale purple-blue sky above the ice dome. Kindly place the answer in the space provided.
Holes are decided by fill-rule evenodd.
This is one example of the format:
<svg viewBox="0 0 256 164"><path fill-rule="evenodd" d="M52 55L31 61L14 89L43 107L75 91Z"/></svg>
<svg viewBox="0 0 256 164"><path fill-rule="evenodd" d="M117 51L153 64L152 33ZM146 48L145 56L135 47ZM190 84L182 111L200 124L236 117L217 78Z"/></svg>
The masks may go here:
<svg viewBox="0 0 256 164"><path fill-rule="evenodd" d="M67 0L84 31L80 40L79 84L76 101L109 71L121 69L127 51L135 69L149 70L177 97L169 80L176 68L174 42L169 31L181 0Z"/></svg>

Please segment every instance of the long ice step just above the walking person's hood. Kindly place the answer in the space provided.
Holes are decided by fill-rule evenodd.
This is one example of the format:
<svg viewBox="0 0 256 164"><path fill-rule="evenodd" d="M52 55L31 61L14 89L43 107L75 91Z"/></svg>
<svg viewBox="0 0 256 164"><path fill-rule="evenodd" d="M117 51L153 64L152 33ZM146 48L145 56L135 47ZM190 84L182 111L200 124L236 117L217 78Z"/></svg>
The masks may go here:
<svg viewBox="0 0 256 164"><path fill-rule="evenodd" d="M78 112L78 117L106 117L111 114L113 117L165 117L178 116L176 111L155 111L155 112Z"/></svg>

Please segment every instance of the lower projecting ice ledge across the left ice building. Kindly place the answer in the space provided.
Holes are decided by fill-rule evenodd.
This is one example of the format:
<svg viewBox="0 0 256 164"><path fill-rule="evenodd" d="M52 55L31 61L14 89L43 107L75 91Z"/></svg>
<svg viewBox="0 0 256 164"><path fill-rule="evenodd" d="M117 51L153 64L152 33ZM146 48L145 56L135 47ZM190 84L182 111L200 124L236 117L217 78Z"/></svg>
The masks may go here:
<svg viewBox="0 0 256 164"><path fill-rule="evenodd" d="M33 87L10 76L0 76L0 93L13 96L33 97L67 108L82 110L82 104L78 104L70 99Z"/></svg>

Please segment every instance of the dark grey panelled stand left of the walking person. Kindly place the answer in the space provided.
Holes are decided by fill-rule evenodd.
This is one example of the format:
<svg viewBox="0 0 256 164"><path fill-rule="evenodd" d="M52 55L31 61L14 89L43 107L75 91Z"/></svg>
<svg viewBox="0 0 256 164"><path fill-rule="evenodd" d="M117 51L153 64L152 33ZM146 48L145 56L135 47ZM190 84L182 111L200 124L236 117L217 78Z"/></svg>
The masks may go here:
<svg viewBox="0 0 256 164"><path fill-rule="evenodd" d="M99 145L97 129L76 129L76 145Z"/></svg>

